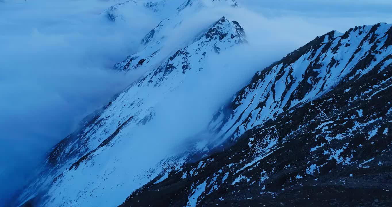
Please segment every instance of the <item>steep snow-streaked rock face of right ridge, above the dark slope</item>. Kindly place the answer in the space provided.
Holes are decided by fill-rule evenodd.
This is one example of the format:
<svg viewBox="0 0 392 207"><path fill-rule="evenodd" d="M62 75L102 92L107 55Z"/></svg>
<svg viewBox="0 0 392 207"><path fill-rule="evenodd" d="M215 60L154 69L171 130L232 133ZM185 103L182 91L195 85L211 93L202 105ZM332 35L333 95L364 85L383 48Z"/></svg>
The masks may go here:
<svg viewBox="0 0 392 207"><path fill-rule="evenodd" d="M388 29L382 24L356 27L345 34L331 31L256 74L254 83L233 100L231 116L217 126L219 135L223 140L235 139L291 107L322 96L352 70L358 70L359 77L367 73L390 54Z"/></svg>

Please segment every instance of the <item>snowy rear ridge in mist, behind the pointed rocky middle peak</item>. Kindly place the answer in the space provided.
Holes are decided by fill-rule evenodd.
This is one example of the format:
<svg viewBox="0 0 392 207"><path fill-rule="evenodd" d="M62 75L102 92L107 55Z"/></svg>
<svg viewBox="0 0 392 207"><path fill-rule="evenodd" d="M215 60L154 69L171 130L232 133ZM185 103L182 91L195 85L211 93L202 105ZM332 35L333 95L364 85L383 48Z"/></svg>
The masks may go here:
<svg viewBox="0 0 392 207"><path fill-rule="evenodd" d="M194 18L190 14L196 14L206 7L233 6L237 5L237 3L234 0L188 0L177 5L179 6L174 10L168 9L168 11L165 11L166 14L173 13L173 15L164 18L141 40L142 50L128 56L123 62L114 65L114 70L143 73L151 67L157 67L164 58L167 58L178 49L188 46L207 32L208 28L201 28L201 30L199 30L199 25L193 25L196 29L192 28L190 25L185 25L186 27L183 28L185 31L183 31L184 34L181 35L181 38L172 40L175 38L172 37L173 35L179 35L173 34L173 31L178 29L178 27L183 26L183 24L187 24L184 23L184 20ZM163 4L163 6L165 9L167 7L173 8L172 5L167 5L167 3ZM196 22L197 21L193 21L192 23ZM188 22L188 24L189 23L191 22ZM189 33L191 35L188 35Z"/></svg>

